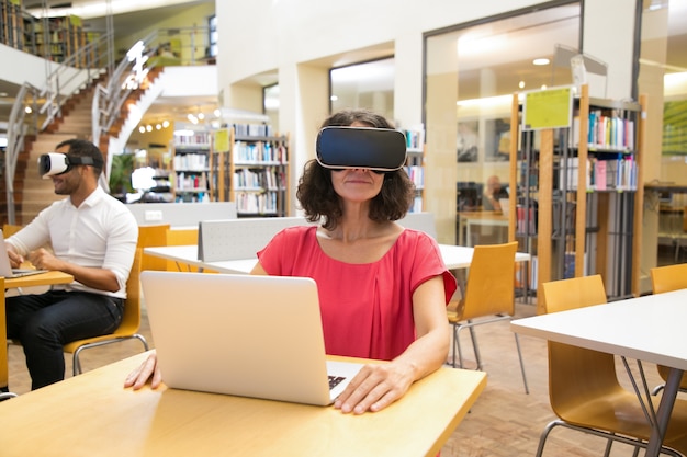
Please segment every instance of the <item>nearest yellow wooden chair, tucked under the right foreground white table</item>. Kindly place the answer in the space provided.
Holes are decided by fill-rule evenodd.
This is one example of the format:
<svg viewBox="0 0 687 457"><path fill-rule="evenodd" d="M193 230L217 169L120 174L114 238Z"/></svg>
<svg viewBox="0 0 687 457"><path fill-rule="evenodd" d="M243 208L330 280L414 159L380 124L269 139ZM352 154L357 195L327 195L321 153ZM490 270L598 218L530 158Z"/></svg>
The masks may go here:
<svg viewBox="0 0 687 457"><path fill-rule="evenodd" d="M544 283L545 312L606 304L600 275ZM609 323L612 325L612 323ZM549 342L549 401L558 420L541 434L537 456L555 426L564 426L608 439L606 456L615 441L646 448L651 426L634 392L618 382L612 354ZM652 400L653 401L653 400ZM657 408L658 400L655 401ZM662 453L687 452L687 402L676 400Z"/></svg>

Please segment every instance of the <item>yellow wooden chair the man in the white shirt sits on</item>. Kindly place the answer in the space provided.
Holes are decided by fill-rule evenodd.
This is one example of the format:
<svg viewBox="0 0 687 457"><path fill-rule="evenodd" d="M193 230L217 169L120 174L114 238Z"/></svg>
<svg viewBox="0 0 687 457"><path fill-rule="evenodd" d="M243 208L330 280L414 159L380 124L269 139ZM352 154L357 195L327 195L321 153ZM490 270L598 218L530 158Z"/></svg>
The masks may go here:
<svg viewBox="0 0 687 457"><path fill-rule="evenodd" d="M126 301L120 327L111 334L77 340L64 345L65 352L74 354L74 376L81 373L79 355L83 350L135 339L143 343L145 351L148 351L148 342L142 334L137 333L140 328L140 264L142 250L137 248L134 264L126 282Z"/></svg>

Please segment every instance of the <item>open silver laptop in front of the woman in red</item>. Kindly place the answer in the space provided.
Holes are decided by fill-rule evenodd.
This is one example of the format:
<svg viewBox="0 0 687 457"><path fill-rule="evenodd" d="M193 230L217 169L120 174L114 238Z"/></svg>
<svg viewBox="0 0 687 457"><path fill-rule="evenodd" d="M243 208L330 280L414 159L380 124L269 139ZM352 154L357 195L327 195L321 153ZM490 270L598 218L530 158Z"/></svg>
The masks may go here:
<svg viewBox="0 0 687 457"><path fill-rule="evenodd" d="M140 283L168 387L327 405L362 367L326 359L311 278L144 271Z"/></svg>

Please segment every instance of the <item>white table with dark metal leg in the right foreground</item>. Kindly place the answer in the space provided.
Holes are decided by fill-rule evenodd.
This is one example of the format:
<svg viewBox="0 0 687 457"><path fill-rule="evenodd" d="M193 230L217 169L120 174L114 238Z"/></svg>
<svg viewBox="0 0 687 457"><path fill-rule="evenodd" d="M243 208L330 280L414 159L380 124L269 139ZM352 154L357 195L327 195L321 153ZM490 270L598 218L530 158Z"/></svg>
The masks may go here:
<svg viewBox="0 0 687 457"><path fill-rule="evenodd" d="M657 456L683 372L687 370L687 289L510 322L514 332L671 368L647 456Z"/></svg>

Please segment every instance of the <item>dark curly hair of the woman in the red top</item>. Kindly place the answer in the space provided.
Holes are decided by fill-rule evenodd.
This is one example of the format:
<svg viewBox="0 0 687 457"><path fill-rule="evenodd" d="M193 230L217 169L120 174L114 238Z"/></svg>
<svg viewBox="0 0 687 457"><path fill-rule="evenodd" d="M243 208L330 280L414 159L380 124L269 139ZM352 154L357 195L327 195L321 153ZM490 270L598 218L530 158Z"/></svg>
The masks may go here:
<svg viewBox="0 0 687 457"><path fill-rule="evenodd" d="M346 127L353 123L374 128L394 128L383 116L369 110L340 111L325 119L322 127ZM370 205L370 219L398 220L406 215L414 197L415 186L404 169L385 172L382 190ZM314 159L305 164L299 180L296 198L307 220L315 222L322 218L323 227L328 230L336 228L344 214L341 198L331 184L331 170L322 167Z"/></svg>

